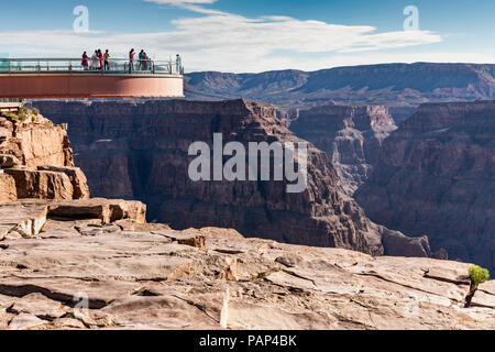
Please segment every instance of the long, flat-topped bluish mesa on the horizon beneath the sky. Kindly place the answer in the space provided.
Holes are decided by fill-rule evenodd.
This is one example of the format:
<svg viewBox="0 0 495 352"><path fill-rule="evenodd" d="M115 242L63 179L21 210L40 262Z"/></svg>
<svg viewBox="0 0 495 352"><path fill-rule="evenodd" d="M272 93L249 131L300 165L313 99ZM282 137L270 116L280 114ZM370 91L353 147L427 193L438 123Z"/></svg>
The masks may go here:
<svg viewBox="0 0 495 352"><path fill-rule="evenodd" d="M185 78L189 99L244 98L285 111L330 101L381 105L388 107L397 124L425 102L495 99L495 65L488 64L382 64L239 75L202 72Z"/></svg>

